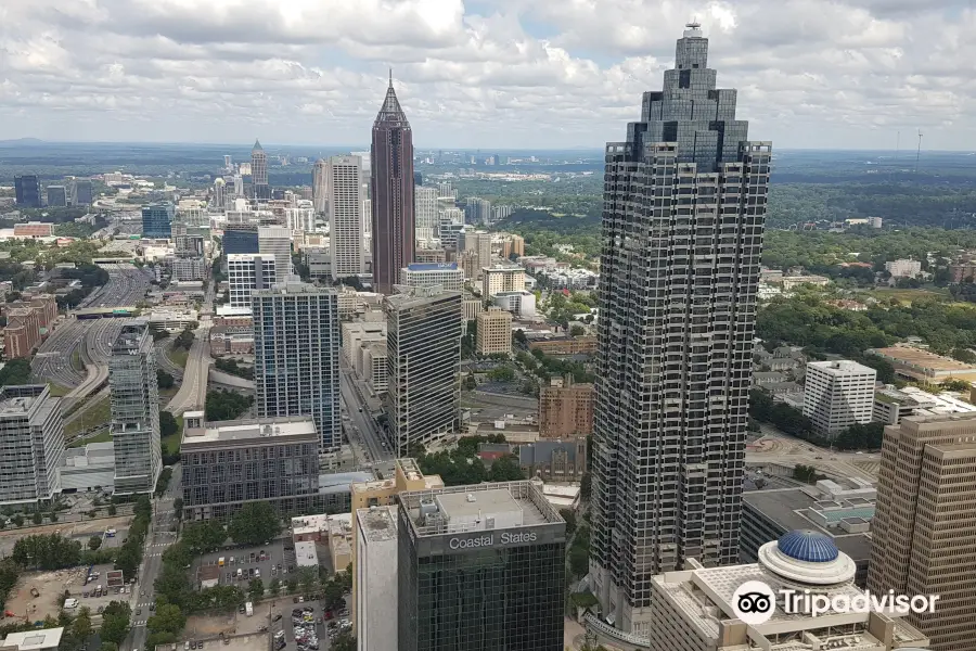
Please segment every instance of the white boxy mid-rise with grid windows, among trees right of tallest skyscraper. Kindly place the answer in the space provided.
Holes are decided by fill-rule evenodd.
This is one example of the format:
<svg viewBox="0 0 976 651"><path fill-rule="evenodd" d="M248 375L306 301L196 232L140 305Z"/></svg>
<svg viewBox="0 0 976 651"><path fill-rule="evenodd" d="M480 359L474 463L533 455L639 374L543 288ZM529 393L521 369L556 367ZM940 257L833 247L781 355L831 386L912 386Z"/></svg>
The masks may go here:
<svg viewBox="0 0 976 651"><path fill-rule="evenodd" d="M807 363L804 416L813 431L834 438L855 423L871 422L877 371L850 360Z"/></svg>

